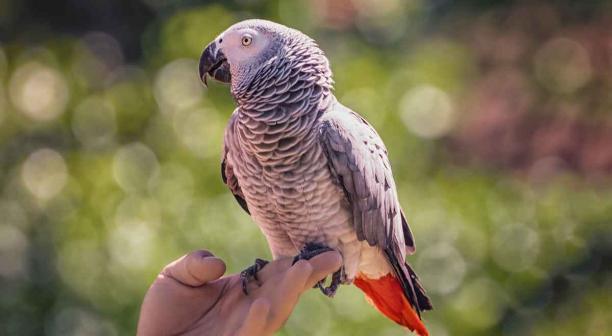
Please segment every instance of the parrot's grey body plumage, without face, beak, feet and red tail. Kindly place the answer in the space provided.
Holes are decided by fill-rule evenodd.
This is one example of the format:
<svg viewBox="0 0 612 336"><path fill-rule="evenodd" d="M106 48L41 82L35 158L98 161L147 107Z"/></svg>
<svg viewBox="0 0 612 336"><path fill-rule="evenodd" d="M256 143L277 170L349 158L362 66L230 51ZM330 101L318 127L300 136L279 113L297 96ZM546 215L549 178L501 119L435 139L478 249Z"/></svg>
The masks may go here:
<svg viewBox="0 0 612 336"><path fill-rule="evenodd" d="M241 81L232 74L238 109L223 139L223 180L258 222L275 258L323 243L343 252L343 283L350 283L361 252L376 246L411 304L427 309L427 296L404 263L414 239L383 141L338 103L329 61L311 38L267 21L243 24L274 35L274 48Z"/></svg>

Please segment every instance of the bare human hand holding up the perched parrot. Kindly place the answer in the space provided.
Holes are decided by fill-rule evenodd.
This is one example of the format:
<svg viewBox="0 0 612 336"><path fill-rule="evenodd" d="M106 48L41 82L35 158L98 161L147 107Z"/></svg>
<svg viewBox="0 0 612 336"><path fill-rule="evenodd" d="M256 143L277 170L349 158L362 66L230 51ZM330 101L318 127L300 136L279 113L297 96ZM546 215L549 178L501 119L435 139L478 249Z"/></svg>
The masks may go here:
<svg viewBox="0 0 612 336"><path fill-rule="evenodd" d="M144 297L137 336L272 335L289 318L300 295L342 264L326 252L291 266L293 258L271 261L242 293L239 274L222 277L223 260L197 250L170 263Z"/></svg>

